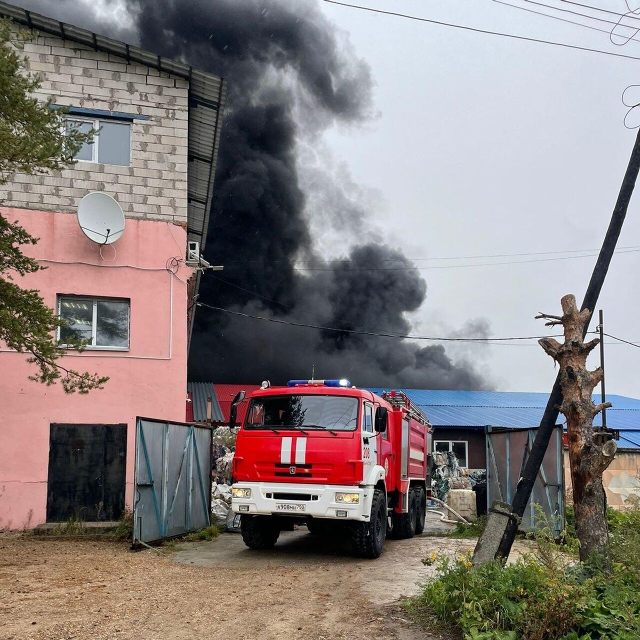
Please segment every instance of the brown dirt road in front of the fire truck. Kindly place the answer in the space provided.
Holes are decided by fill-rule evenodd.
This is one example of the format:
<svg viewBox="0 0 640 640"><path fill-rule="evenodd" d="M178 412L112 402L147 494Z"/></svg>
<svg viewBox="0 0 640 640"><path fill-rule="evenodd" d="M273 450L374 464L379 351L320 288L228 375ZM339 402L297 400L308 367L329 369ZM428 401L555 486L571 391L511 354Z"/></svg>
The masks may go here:
<svg viewBox="0 0 640 640"><path fill-rule="evenodd" d="M301 531L271 552L237 534L170 556L104 541L0 537L0 638L418 640L392 605L417 591L431 549L474 541L387 541L376 561Z"/></svg>

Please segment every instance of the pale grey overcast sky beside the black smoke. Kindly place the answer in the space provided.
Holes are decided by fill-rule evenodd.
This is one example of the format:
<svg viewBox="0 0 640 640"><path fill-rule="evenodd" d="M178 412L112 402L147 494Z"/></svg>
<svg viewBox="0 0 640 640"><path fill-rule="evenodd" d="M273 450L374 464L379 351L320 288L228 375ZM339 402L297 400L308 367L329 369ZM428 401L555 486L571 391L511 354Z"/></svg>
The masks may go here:
<svg viewBox="0 0 640 640"><path fill-rule="evenodd" d="M296 0L301 15L310 1ZM113 17L124 28L127 24L124 1L17 3L95 29L99 20ZM522 0L513 3L531 6ZM563 6L557 0L548 3ZM97 8L100 18L79 19L78 4ZM362 4L640 58L640 43L614 47L605 33L492 0ZM600 6L626 10L624 0ZM627 84L638 81L640 60L326 3L322 8L348 33L376 80L378 118L360 129L324 134L328 157L344 163L372 204L364 235L381 232L410 258L600 246L635 136L623 126L626 109L620 95ZM640 245L640 195L632 200L621 236L620 246L630 245ZM492 260L477 260L487 261ZM585 258L424 269L428 298L413 317L413 331L460 332L468 320L484 317L497 337L545 334L533 316L539 310L557 313L565 293L574 292L580 300L594 262ZM601 296L607 331L629 340L640 340L639 266L640 253L615 257ZM501 390L547 391L555 377L554 365L535 342L529 344L447 347L447 352L476 360ZM591 364L595 367L596 360ZM640 396L635 376L639 364L640 349L607 346L609 392Z"/></svg>

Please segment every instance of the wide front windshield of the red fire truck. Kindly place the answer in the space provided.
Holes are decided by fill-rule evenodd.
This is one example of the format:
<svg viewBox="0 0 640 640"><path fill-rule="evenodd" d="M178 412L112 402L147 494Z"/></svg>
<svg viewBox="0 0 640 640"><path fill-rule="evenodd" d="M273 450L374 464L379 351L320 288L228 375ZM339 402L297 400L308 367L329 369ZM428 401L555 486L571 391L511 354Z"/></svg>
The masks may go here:
<svg viewBox="0 0 640 640"><path fill-rule="evenodd" d="M253 398L244 428L355 431L357 425L358 398L314 394Z"/></svg>

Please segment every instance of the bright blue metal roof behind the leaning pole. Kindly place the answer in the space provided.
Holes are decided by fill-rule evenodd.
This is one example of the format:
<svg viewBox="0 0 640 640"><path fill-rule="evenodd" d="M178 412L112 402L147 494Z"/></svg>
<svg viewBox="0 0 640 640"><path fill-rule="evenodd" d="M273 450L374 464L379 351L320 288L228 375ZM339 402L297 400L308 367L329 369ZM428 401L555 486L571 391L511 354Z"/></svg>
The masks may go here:
<svg viewBox="0 0 640 640"><path fill-rule="evenodd" d="M383 389L369 388L380 394ZM485 426L529 428L540 424L548 394L509 391L445 391L402 389L417 404L433 426L481 429ZM593 401L600 402L594 395ZM607 409L607 426L620 430L618 446L640 449L640 400L627 396L607 396L613 404ZM561 418L562 419L562 418ZM600 426L602 417L594 424Z"/></svg>

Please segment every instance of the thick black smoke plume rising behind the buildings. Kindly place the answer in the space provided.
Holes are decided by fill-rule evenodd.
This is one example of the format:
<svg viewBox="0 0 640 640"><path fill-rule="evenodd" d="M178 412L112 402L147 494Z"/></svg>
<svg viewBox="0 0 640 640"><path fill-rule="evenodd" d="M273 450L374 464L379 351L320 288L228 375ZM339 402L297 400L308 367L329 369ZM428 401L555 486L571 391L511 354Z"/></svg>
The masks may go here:
<svg viewBox="0 0 640 640"><path fill-rule="evenodd" d="M76 5L72 0L29 1L36 10L47 4L45 15L64 8L70 12ZM52 12L51 5L58 11ZM326 127L366 120L372 115L373 84L368 65L319 4L135 0L127 9L142 47L228 81L205 252L207 260L225 270L203 276L200 301L325 327L298 328L200 307L189 378L282 383L310 377L315 366L319 378L346 376L360 386L486 387L472 365L464 359L452 362L443 346L346 332L410 332L405 314L422 305L426 283L417 269L365 270L412 263L399 250L372 240L374 233L362 235L366 211L343 188L348 177L332 179L316 166L314 191L323 209L330 207L323 215L334 227L331 237L342 237L333 255L342 251L344 239L362 238L340 259L317 255L311 229L321 225L308 218L305 208L310 189L303 193L301 188L301 141L313 147ZM101 30L95 20L90 26ZM126 33L120 27L117 35ZM301 271L296 264L319 270ZM467 335L488 334L482 321L467 323L465 329Z"/></svg>

